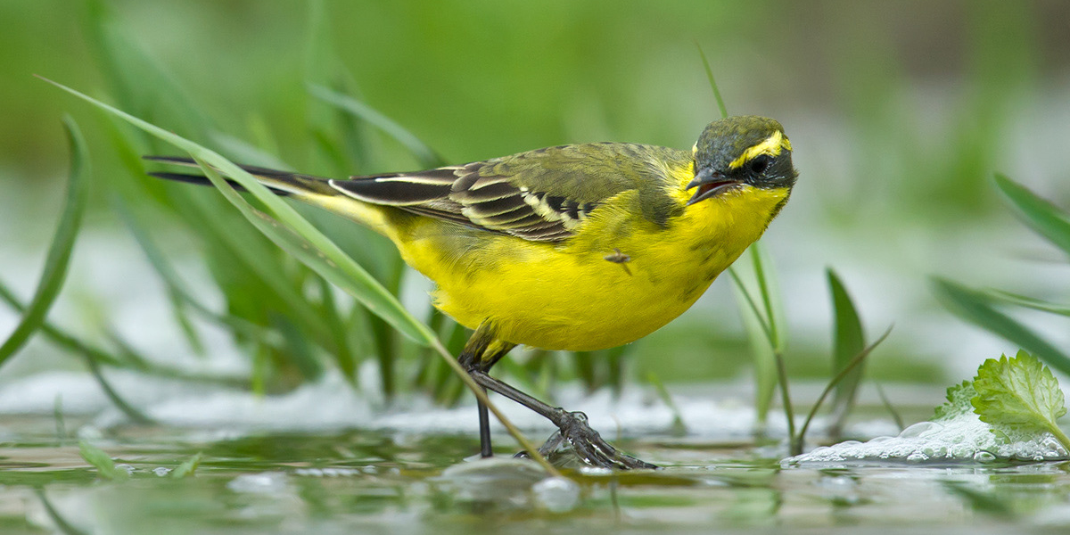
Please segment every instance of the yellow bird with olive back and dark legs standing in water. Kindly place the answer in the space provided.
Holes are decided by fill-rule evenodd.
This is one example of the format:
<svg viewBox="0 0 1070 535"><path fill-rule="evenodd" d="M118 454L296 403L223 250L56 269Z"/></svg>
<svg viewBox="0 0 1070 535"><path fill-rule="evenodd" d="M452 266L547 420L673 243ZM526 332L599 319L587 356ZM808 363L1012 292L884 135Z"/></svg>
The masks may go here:
<svg viewBox="0 0 1070 535"><path fill-rule="evenodd" d="M586 463L620 470L656 467L614 448L582 412L540 401L491 367L516 346L592 351L666 325L765 232L798 177L783 126L758 116L710 122L690 151L562 144L347 179L242 167L278 195L388 238L434 282L433 305L472 330L458 356L472 379L557 427L540 450L568 443ZM210 184L201 174L150 174ZM480 455L490 457L482 402L478 412Z"/></svg>

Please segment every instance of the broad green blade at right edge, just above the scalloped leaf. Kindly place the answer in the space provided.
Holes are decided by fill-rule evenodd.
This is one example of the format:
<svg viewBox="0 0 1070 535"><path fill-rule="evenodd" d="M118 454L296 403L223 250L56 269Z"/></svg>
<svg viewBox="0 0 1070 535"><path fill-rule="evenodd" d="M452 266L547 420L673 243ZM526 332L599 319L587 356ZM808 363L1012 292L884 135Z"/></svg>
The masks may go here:
<svg viewBox="0 0 1070 535"><path fill-rule="evenodd" d="M944 305L960 318L1017 343L1063 373L1070 373L1070 356L1029 327L996 310L983 292L942 278L933 278L932 287Z"/></svg>

